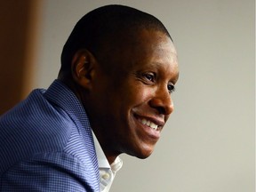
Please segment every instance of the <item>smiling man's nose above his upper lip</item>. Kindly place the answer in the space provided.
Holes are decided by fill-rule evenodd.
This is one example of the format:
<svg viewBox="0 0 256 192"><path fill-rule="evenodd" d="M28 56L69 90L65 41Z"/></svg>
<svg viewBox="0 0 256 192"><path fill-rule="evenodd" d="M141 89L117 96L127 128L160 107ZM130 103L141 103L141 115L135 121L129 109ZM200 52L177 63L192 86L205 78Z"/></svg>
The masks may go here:
<svg viewBox="0 0 256 192"><path fill-rule="evenodd" d="M158 89L156 95L149 101L149 105L163 115L170 115L174 109L172 97L167 88Z"/></svg>

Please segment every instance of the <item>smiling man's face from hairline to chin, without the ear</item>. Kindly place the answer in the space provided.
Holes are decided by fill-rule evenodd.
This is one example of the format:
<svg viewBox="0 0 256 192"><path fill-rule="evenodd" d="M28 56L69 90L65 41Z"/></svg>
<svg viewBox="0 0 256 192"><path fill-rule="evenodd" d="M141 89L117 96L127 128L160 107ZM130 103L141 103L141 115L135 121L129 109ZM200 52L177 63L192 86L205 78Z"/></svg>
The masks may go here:
<svg viewBox="0 0 256 192"><path fill-rule="evenodd" d="M107 156L148 157L173 110L179 70L172 41L154 30L137 36L110 52L108 73L95 73L87 113Z"/></svg>

